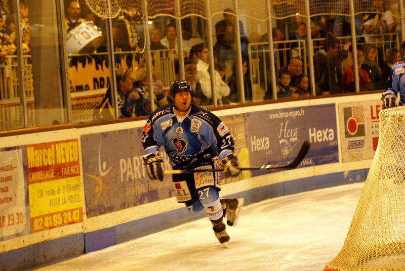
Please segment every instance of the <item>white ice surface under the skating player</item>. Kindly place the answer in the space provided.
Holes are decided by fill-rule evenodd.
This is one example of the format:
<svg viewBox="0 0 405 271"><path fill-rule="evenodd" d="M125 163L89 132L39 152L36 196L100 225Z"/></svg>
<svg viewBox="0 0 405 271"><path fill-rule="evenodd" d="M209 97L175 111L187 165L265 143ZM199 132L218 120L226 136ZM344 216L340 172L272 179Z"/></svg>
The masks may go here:
<svg viewBox="0 0 405 271"><path fill-rule="evenodd" d="M227 248L208 218L41 270L323 270L340 251L363 183L245 206Z"/></svg>

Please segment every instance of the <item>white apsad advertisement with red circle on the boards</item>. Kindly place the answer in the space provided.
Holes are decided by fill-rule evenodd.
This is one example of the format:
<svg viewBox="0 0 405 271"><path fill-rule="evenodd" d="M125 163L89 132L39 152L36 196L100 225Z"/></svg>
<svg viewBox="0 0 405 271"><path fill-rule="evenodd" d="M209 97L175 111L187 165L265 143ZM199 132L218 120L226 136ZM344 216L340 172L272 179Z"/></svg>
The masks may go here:
<svg viewBox="0 0 405 271"><path fill-rule="evenodd" d="M374 157L382 109L379 100L339 104L342 162Z"/></svg>

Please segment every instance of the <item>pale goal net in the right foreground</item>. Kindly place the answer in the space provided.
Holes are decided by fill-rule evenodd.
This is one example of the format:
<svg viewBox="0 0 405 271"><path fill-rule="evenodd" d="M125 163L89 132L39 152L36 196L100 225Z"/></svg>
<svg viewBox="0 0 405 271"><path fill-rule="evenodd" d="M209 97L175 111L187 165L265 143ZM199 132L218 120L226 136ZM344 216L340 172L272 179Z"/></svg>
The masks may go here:
<svg viewBox="0 0 405 271"><path fill-rule="evenodd" d="M380 112L380 139L342 250L325 271L405 269L405 108Z"/></svg>

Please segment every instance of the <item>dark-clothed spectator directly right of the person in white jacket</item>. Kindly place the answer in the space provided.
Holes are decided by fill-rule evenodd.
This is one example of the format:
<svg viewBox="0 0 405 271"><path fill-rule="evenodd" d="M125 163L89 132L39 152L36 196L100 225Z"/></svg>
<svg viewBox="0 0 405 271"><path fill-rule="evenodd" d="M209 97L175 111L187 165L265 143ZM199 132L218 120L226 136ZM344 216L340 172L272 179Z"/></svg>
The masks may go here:
<svg viewBox="0 0 405 271"><path fill-rule="evenodd" d="M242 59L242 73L244 75L245 101L252 101L252 83L250 80L249 64L247 58ZM236 61L233 63L232 74L228 77L227 82L230 88L229 100L232 103L239 103L240 98L236 79Z"/></svg>

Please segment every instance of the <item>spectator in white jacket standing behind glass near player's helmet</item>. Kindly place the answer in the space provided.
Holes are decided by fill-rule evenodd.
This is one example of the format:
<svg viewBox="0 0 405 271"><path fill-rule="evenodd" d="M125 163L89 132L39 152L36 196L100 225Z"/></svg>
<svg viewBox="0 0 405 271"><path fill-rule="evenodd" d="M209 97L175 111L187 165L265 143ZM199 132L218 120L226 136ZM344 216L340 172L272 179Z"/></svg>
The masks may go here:
<svg viewBox="0 0 405 271"><path fill-rule="evenodd" d="M211 88L211 76L209 72L209 51L208 46L203 44L198 47L198 62L197 62L197 81L201 84L201 90L203 94L208 98L208 102L212 101L212 88ZM222 105L222 97L229 95L229 86L221 79L221 76L214 70L215 74L215 86L216 96L218 104Z"/></svg>

